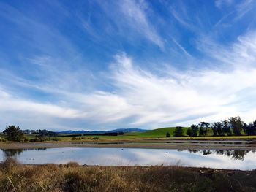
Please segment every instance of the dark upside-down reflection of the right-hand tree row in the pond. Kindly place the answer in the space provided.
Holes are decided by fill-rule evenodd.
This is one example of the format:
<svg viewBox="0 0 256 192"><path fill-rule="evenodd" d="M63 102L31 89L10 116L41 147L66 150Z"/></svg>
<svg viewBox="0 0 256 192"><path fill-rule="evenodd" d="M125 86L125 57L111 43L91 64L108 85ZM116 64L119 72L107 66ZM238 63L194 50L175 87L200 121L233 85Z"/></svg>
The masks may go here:
<svg viewBox="0 0 256 192"><path fill-rule="evenodd" d="M217 154L226 155L235 160L244 161L245 156L250 151L255 153L255 150L188 150L190 153L202 153L203 155Z"/></svg>

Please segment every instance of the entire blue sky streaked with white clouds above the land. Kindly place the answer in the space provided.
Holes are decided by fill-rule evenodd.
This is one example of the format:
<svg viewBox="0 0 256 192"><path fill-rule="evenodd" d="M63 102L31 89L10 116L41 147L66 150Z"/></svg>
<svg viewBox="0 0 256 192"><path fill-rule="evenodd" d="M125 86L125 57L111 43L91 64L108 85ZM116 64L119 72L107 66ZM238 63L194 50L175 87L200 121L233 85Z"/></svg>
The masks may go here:
<svg viewBox="0 0 256 192"><path fill-rule="evenodd" d="M0 1L0 131L256 120L256 1Z"/></svg>

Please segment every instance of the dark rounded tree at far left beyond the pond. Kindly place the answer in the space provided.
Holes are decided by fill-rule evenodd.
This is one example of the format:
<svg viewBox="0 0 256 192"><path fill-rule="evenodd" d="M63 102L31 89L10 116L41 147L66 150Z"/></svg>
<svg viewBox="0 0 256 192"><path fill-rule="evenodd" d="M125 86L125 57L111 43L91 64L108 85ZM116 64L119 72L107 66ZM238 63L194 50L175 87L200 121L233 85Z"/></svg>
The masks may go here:
<svg viewBox="0 0 256 192"><path fill-rule="evenodd" d="M20 127L16 126L7 126L3 131L4 136L9 141L20 142L23 139L23 132L20 130Z"/></svg>

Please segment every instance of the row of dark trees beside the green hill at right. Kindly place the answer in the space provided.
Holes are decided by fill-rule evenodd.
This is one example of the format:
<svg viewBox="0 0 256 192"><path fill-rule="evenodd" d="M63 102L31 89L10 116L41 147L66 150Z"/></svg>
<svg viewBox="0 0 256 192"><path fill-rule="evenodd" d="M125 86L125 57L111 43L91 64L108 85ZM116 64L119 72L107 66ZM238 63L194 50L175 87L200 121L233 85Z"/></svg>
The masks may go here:
<svg viewBox="0 0 256 192"><path fill-rule="evenodd" d="M256 120L252 123L246 124L239 116L237 116L214 123L200 122L197 125L192 124L189 126L186 134L189 137L206 136L210 129L214 136L240 136L242 131L247 135L256 135ZM177 126L173 136L184 137L184 127ZM167 132L166 137L170 137L169 132Z"/></svg>

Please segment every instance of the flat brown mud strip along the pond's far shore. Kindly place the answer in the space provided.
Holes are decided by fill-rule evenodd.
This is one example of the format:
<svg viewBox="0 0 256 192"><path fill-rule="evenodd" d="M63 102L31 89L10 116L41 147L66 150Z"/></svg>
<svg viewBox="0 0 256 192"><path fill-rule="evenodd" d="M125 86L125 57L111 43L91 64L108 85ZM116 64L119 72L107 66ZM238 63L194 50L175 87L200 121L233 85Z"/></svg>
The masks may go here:
<svg viewBox="0 0 256 192"><path fill-rule="evenodd" d="M156 141L147 142L0 142L1 149L33 149L59 147L95 147L95 148L142 148L142 149L174 149L174 150L255 150L256 142L236 140L229 141Z"/></svg>

